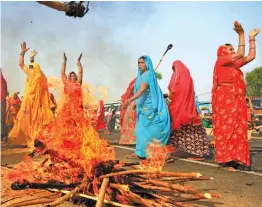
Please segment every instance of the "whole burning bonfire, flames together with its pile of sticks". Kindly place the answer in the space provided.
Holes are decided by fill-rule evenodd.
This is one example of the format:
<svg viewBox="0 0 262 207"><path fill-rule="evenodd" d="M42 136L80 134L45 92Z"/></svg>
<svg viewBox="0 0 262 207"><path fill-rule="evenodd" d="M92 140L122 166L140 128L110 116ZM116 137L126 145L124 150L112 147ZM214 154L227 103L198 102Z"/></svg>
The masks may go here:
<svg viewBox="0 0 262 207"><path fill-rule="evenodd" d="M12 182L10 190L2 191L2 207L64 206L67 200L88 207L192 207L188 201L219 197L183 185L210 177L162 171L167 154L174 151L171 146L153 142L146 160L116 160L114 149L84 115L81 101L79 95L65 102L56 118L32 140L34 151L23 162L2 167L2 177ZM36 156L40 162L33 161Z"/></svg>

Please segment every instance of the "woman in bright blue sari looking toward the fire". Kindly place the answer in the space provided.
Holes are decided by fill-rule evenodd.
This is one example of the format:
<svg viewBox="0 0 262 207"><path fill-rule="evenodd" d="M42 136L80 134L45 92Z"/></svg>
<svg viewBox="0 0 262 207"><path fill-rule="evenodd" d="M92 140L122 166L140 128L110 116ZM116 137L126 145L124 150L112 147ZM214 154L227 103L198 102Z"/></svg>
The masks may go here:
<svg viewBox="0 0 262 207"><path fill-rule="evenodd" d="M134 95L123 107L136 101L136 155L147 158L147 145L156 139L166 145L170 135L170 115L163 93L157 83L151 59L142 56L138 59L138 75Z"/></svg>

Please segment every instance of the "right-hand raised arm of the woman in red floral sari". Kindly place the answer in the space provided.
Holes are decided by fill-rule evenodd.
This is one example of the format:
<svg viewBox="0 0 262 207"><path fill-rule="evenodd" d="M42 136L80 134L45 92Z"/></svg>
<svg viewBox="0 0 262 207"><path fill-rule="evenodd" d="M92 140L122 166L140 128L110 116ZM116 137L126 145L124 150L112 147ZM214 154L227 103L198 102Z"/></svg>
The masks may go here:
<svg viewBox="0 0 262 207"><path fill-rule="evenodd" d="M249 33L249 52L248 55L239 61L238 67L242 67L256 58L256 35L260 32L260 29L251 30Z"/></svg>

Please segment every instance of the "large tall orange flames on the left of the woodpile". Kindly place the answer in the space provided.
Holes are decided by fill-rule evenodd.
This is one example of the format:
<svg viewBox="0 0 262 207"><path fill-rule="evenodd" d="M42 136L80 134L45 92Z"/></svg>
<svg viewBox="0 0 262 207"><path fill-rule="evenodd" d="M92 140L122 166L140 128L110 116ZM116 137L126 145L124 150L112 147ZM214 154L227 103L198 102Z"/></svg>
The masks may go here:
<svg viewBox="0 0 262 207"><path fill-rule="evenodd" d="M93 176L92 170L97 164L115 160L115 151L93 128L91 119L94 114L84 113L84 104L90 108L95 103L95 98L87 94L88 84L84 87L72 85L66 93L62 91L64 87L60 80L49 78L48 84L60 95L57 101L59 111L38 133L34 143L34 154L45 155L46 161L39 165L27 157L7 173L6 178L27 181L54 179L68 184L80 182Z"/></svg>

